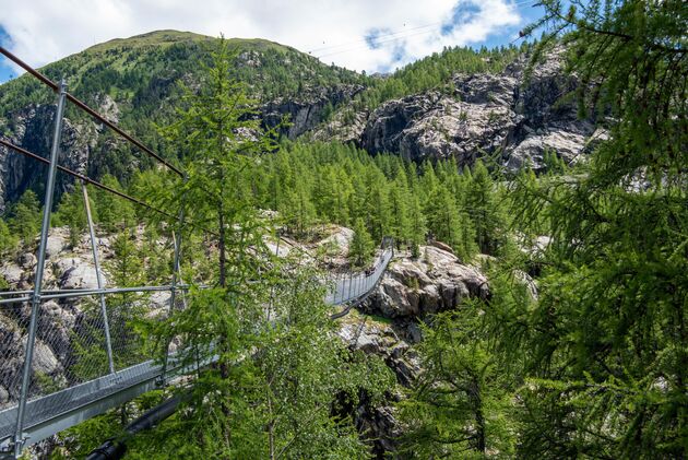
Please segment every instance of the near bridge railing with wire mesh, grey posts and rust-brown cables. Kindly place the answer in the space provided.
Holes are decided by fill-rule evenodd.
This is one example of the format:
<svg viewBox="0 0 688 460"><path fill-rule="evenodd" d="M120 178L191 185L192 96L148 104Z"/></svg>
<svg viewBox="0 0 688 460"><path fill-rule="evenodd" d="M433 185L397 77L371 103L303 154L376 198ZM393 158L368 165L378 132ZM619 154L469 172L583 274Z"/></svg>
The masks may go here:
<svg viewBox="0 0 688 460"><path fill-rule="evenodd" d="M141 366L143 364L141 361L145 356L139 355L138 352L144 347L138 343L137 331L132 327L132 319L141 314L139 309L145 309L142 299L133 298L137 296L134 292L139 290L130 290L130 292L111 292L117 290L106 292L104 290L85 184L93 184L138 205L167 216L170 215L58 164L67 103L71 102L179 176L183 176L183 173L69 94L64 81L59 84L52 82L3 47L0 47L0 54L24 68L31 75L58 94L48 158L13 145L5 140L1 142L7 149L48 165L34 288L0 298L0 326L2 326L0 357L3 358L0 363L0 404L9 405L0 412L0 456L19 457L28 440L28 435L25 433L27 423L45 422L40 420L44 412L55 415L66 412L69 408L85 404L87 401L84 401L84 394L95 394L104 388L115 388L118 380L126 378L133 381L141 375L129 374L146 374L152 366ZM97 290L44 292L46 247L58 170L82 180L84 208L97 274ZM176 241L175 269L179 268L179 248L180 244ZM169 286L170 303L175 302L176 284L179 283L177 282L177 273L174 271ZM105 297L109 294L112 294L115 299L120 296L119 298L124 298L124 300L108 306ZM56 311L58 314L52 316ZM165 363L167 364L167 359ZM159 370L156 373L159 374ZM70 391L70 389L80 389L80 391ZM43 404L35 402L43 402ZM43 418L47 416L45 415ZM34 437L33 441L35 440Z"/></svg>

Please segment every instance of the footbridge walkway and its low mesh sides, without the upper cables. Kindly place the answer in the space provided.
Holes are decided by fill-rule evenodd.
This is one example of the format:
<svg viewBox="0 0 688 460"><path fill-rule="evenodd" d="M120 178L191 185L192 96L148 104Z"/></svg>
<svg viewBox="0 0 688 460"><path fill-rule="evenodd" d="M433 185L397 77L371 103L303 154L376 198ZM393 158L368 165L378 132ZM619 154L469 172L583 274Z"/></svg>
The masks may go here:
<svg viewBox="0 0 688 460"><path fill-rule="evenodd" d="M339 309L332 318L340 318L357 304L365 300L382 279L392 259L391 245L382 248L371 270L360 273L340 274L329 280L325 303ZM0 371L0 386L8 391L8 401L0 404L0 459L14 458L21 448L38 443L56 433L74 426L90 417L120 405L139 394L164 387L170 378L194 370L183 368L175 361L174 354L167 357L167 365L161 359L146 358L140 354L129 354L133 339L131 331L122 329L121 318L114 317L108 307L107 297L123 293L145 292L185 292L187 286L142 286L140 288L104 290L64 290L46 291L40 294L41 305L50 299L78 300L103 299L105 310L99 309L99 302L93 302L92 315L64 337L64 330L50 317L45 308L37 311L38 326L33 335L34 353L27 389L22 392L24 380L22 369L25 363L28 327L31 317L25 317L25 292L0 293L0 321L13 321L15 330L7 334L4 325L0 326L0 358L5 363ZM12 295L12 297L8 297ZM170 295L170 298L173 296ZM22 320L23 319L23 320ZM109 330L108 330L109 329ZM2 333L4 332L4 335ZM109 339L106 339L109 338ZM61 343L61 351L68 356L57 364L61 369L59 380L46 374L52 359L52 352L47 344ZM108 343L109 342L109 343ZM80 350L87 350L86 353ZM93 353L93 351L100 353ZM111 366L111 369L110 369ZM84 378L83 376L94 376ZM54 380L55 379L55 380ZM61 388L61 389L60 389ZM25 398L21 438L17 443L16 427L20 422L20 398ZM21 448L16 449L16 447Z"/></svg>

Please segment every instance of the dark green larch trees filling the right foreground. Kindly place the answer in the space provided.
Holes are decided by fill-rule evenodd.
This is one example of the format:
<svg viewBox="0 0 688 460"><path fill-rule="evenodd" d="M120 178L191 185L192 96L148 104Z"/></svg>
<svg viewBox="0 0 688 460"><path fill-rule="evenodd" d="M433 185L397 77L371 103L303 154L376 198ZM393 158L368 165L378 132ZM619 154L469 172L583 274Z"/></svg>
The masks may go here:
<svg viewBox="0 0 688 460"><path fill-rule="evenodd" d="M547 152L546 176L515 179L507 197L514 243L548 235L537 255L482 235L499 220L475 210L486 187L474 168L466 210L478 245L502 247L485 267L491 298L425 329L426 371L401 403L404 451L685 458L688 10L681 1L543 3L536 26L548 27L535 56L564 43L583 79L581 111L617 122L577 175L560 175L566 167Z"/></svg>

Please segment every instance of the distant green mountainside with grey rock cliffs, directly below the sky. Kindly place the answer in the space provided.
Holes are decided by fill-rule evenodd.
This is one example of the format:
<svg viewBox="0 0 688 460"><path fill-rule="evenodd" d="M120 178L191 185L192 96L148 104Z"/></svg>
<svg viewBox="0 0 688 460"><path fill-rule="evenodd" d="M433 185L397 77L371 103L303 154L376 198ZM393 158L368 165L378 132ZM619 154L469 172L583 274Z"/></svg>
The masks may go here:
<svg viewBox="0 0 688 460"><path fill-rule="evenodd" d="M175 118L179 82L200 84L214 38L158 31L114 39L41 69L69 91L174 161L179 152L158 134ZM450 48L390 75L368 76L327 66L294 48L233 38L234 76L259 102L266 128L288 139L352 142L371 154L416 162L455 157L460 165L490 156L510 169L545 168L546 151L581 158L595 129L562 96L577 87L559 54L526 78L529 46L474 51ZM562 101L565 101L562 103ZM48 151L54 95L23 75L0 86L0 135L39 155ZM91 177L126 180L152 166L84 114L68 110L63 164ZM27 189L39 191L43 167L0 148L0 209ZM70 189L60 178L58 193Z"/></svg>

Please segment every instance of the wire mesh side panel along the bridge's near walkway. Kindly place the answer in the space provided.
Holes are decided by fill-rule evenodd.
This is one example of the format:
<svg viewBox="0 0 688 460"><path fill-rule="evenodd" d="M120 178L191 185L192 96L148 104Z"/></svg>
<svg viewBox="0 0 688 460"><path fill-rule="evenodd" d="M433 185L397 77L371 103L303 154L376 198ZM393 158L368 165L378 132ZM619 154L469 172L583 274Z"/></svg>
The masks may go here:
<svg viewBox="0 0 688 460"><path fill-rule="evenodd" d="M156 286L157 291L163 288L167 290L163 292L171 292L171 286ZM186 290L187 286L177 288ZM63 413L87 398L84 392L64 390L111 376L107 382L102 381L92 389L103 392L107 386L135 380L137 373L155 367L152 364L146 368L137 368L137 365L156 357L156 363L162 361L162 356L155 356L156 352L146 347L137 328L145 318L163 317L164 311L159 310L168 307L159 303L152 305L150 292L135 287L110 288L95 294L82 291L71 297L67 296L69 292L63 291L59 293L63 297L41 303L25 393L27 403L54 394L49 411L43 411L44 415ZM100 308L102 295L105 296L107 316ZM178 297L176 303L181 304L181 298ZM0 439L11 436L17 422L14 409L22 398L22 369L31 312L27 302L0 305L0 389L3 392L0 400ZM107 334L110 347L106 346ZM162 369L157 367L159 375ZM35 409L32 413L27 412L26 417L32 423L41 422L40 414L35 412Z"/></svg>

